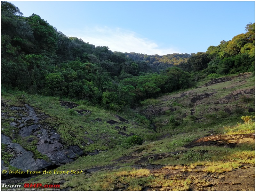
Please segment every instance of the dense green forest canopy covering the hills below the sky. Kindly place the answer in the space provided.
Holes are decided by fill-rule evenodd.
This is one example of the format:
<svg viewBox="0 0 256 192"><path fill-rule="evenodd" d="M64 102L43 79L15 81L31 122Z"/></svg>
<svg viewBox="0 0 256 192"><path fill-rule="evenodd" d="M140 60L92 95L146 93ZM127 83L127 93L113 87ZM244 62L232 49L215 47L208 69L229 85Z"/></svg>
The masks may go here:
<svg viewBox="0 0 256 192"><path fill-rule="evenodd" d="M122 110L206 76L254 71L254 23L206 52L147 55L67 37L37 14L1 2L2 89L83 99Z"/></svg>

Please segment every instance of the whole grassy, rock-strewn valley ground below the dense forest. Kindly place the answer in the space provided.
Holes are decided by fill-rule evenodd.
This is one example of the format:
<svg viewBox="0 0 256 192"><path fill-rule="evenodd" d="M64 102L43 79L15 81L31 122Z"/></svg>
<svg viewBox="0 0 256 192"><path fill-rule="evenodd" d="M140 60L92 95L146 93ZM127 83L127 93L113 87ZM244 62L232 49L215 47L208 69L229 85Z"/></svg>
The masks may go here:
<svg viewBox="0 0 256 192"><path fill-rule="evenodd" d="M114 114L81 100L2 93L2 156L11 154L2 170L64 172L2 178L61 190L254 190L254 120L241 119L254 116L252 73L154 100ZM142 145L131 146L134 135Z"/></svg>

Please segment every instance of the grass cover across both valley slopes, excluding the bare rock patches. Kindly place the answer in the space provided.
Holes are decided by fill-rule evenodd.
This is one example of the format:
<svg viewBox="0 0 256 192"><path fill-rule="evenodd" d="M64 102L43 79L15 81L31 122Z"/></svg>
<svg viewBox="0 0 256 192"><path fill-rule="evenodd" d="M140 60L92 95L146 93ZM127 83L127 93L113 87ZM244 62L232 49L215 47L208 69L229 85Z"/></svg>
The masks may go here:
<svg viewBox="0 0 256 192"><path fill-rule="evenodd" d="M131 130L127 129L127 133L133 132L143 136L145 142L141 146L134 146L128 149L116 147L108 151L103 151L95 156L79 157L75 162L57 168L59 171L86 170L93 167L112 165L116 166L116 169L108 170L105 167L107 170L82 175L46 174L32 179L31 182L45 184L60 183L61 188L68 190L145 190L147 187L150 190L187 190L189 185L195 182L200 183L200 185L207 185L207 182L205 180L195 181L191 178L178 179L179 175L166 178L164 172L154 173L148 169L135 169L130 165L158 164L165 165L167 166L165 169L170 170L181 169L192 172L200 169L201 172L222 173L242 167L244 164L254 164L254 140L252 139L241 141L236 148L199 146L186 149L183 147L197 138L213 133L224 134L226 132L225 134L239 134L254 132L254 122L244 125L241 119L242 115L254 115L254 113L248 113L248 108L254 108L254 96L248 94L248 98L252 97L252 100L250 98L243 98L241 97L242 95L239 95L237 98L232 95L235 91L254 88L254 77L251 75L244 78L237 77L231 81L202 87L207 82L209 80L199 82L197 88L186 90L186 92L180 91L158 98L162 103L155 108L148 106L138 109L138 111L148 115L152 110L164 108L157 116L151 115L150 119L156 124L158 133L155 133L155 135L167 135L167 137L163 139L159 137L159 140L156 140L156 136L152 136L154 133L148 133L148 131L152 132L152 130L148 129L148 121L138 115L137 118L132 119L134 114L122 114L124 118L130 119L128 126L132 128ZM193 98L200 94L212 92L214 94L210 97L201 99L195 103L191 102ZM181 97L181 95L183 96ZM231 96L231 99L228 99L228 103L221 103L223 101L222 99L227 98L227 96L228 98ZM3 94L4 100L11 100L15 97L17 98L18 96ZM86 130L90 133L90 137L95 141L95 144L93 148L87 146L88 149L86 148L86 150L93 150L95 148L107 149L109 148L108 143L110 140L107 140L107 143L104 145L104 142L106 142L104 139L116 137L122 140L124 138L124 136L117 134L114 125L110 126L106 123L109 119L115 121L118 121L118 119L103 109L82 105L79 108L90 110L92 114L90 116L78 116L72 115L73 113L68 112L68 109L60 107L59 98L38 97L27 94L25 94L25 98L26 102L31 106L40 108L40 110L50 114L52 116L51 118L55 119L54 123L58 124L58 131L64 138L67 137L64 139L67 144L72 141L73 143L77 142L81 146L81 141L79 139L76 141L67 131L63 131L65 128L67 130L73 130L78 138L81 134L80 131L84 132ZM215 104L217 101L221 101L220 104ZM173 108L175 111L172 112L170 109ZM240 110L237 110L237 108L240 108ZM193 115L191 115L191 109L194 111ZM179 121L179 125L170 122L171 116ZM92 122L96 118L101 118L102 121ZM141 120L144 123L140 123ZM237 122L241 124L237 125ZM120 122L121 125L122 123ZM83 130L75 131L79 126L84 127ZM100 135L105 134L100 141L97 140L98 133ZM151 138L151 141L148 138ZM114 144L116 142L113 142L112 145ZM149 157L146 162L135 163L142 157L177 150L184 152L160 159ZM132 158L128 160L117 160L124 156L130 156ZM120 166L122 167L120 168ZM65 183L63 183L63 180L65 180Z"/></svg>

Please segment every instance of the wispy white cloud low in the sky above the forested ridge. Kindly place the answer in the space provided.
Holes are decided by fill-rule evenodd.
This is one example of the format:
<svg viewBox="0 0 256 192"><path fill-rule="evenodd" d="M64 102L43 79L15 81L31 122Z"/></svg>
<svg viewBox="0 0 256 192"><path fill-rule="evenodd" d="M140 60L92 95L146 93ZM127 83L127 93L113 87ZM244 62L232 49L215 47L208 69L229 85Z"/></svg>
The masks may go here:
<svg viewBox="0 0 256 192"><path fill-rule="evenodd" d="M109 27L93 27L85 28L83 31L70 31L68 36L78 37L84 42L89 42L95 46L108 46L111 51L119 52L136 52L146 53L148 55L158 54L166 55L172 53L180 53L178 49L174 48L159 48L153 41L142 38L133 31L121 28Z"/></svg>

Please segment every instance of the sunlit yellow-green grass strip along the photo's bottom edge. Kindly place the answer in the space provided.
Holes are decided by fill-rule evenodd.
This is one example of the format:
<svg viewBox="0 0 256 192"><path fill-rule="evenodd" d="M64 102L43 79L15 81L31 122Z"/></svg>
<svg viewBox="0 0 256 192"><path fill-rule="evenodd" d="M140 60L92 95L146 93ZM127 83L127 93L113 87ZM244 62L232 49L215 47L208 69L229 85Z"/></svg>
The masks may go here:
<svg viewBox="0 0 256 192"><path fill-rule="evenodd" d="M70 180L69 180L70 179ZM68 177L63 188L75 187L77 190L132 190L148 187L157 190L187 190L189 180L178 177L166 178L164 174L154 174L148 169L120 168L112 172L102 171L90 177ZM86 183L82 183L86 180Z"/></svg>

